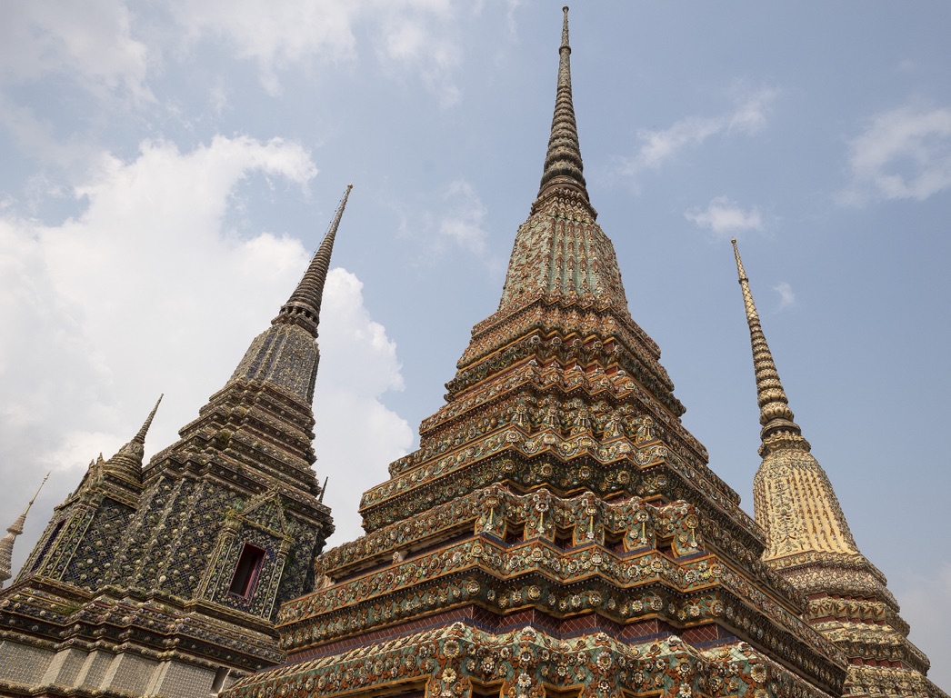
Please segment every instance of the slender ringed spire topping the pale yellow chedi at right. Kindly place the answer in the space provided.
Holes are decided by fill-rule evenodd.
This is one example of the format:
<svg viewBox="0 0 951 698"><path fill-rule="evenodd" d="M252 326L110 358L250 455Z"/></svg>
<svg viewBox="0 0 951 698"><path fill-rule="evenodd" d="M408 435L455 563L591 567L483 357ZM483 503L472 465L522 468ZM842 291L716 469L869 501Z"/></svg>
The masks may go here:
<svg viewBox="0 0 951 698"><path fill-rule="evenodd" d="M730 242L733 243L736 270L740 276L740 288L743 289L743 302L747 309L747 324L749 325L749 341L753 348L756 395L760 405L760 424L763 425L760 432L760 438L763 441L760 453L766 456L769 450L768 438L777 433L783 433L786 437L801 440L805 443L805 449L808 450L808 443L803 438L802 430L792 420L793 415L792 410L789 409L789 399L786 397L783 383L780 382L779 373L776 371L776 363L773 361L772 352L769 351L766 335L763 334L760 316L756 312L753 294L749 290L749 280L747 279L747 272L743 268L743 261L740 259L740 249L736 246L735 239Z"/></svg>

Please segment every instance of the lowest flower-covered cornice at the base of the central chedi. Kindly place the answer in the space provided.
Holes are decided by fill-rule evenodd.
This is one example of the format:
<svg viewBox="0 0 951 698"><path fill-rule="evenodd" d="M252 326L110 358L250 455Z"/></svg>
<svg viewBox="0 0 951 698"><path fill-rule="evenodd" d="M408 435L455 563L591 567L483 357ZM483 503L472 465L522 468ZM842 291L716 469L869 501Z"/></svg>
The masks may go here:
<svg viewBox="0 0 951 698"><path fill-rule="evenodd" d="M830 678L841 686L841 676ZM578 687L585 695L610 698L630 693L753 698L767 685L796 698L827 698L746 643L699 652L676 636L628 645L604 632L568 641L530 627L494 633L463 623L304 661L293 671L249 676L232 690L239 698L301 692L342 697L399 687L423 690L428 698L471 698L474 682L526 698L541 698L546 688Z"/></svg>

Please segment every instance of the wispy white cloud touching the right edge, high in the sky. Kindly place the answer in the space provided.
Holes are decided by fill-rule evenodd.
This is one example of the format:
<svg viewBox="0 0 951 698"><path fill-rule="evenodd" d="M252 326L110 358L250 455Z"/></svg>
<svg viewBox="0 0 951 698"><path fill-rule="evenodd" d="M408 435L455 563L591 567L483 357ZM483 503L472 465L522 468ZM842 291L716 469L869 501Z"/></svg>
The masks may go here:
<svg viewBox="0 0 951 698"><path fill-rule="evenodd" d="M951 189L951 107L900 107L876 115L849 144L852 183L843 204L923 201Z"/></svg>

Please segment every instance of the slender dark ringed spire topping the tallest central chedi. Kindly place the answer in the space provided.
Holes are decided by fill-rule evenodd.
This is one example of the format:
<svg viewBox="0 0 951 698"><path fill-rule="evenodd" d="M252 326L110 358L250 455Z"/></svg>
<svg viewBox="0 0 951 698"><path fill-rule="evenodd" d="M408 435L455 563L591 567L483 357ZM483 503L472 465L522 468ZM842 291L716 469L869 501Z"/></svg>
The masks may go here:
<svg viewBox="0 0 951 698"><path fill-rule="evenodd" d="M553 189L570 188L590 204L588 189L581 162L581 145L578 143L578 126L574 121L572 103L572 47L568 43L568 8L561 29L561 46L558 48L558 91L554 98L552 135L545 156L545 170L538 188L537 204Z"/></svg>

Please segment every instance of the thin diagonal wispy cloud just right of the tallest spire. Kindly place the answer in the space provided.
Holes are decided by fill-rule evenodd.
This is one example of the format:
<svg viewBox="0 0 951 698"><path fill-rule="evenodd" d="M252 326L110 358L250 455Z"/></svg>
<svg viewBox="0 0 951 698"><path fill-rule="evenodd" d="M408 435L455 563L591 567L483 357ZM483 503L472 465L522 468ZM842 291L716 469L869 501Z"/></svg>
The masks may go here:
<svg viewBox="0 0 951 698"><path fill-rule="evenodd" d="M736 107L719 116L691 116L662 130L640 129L637 132L640 148L624 164L622 171L633 174L643 169L660 167L683 149L701 145L718 134L754 134L766 127L769 108L778 94L773 88L760 89L744 95Z"/></svg>

